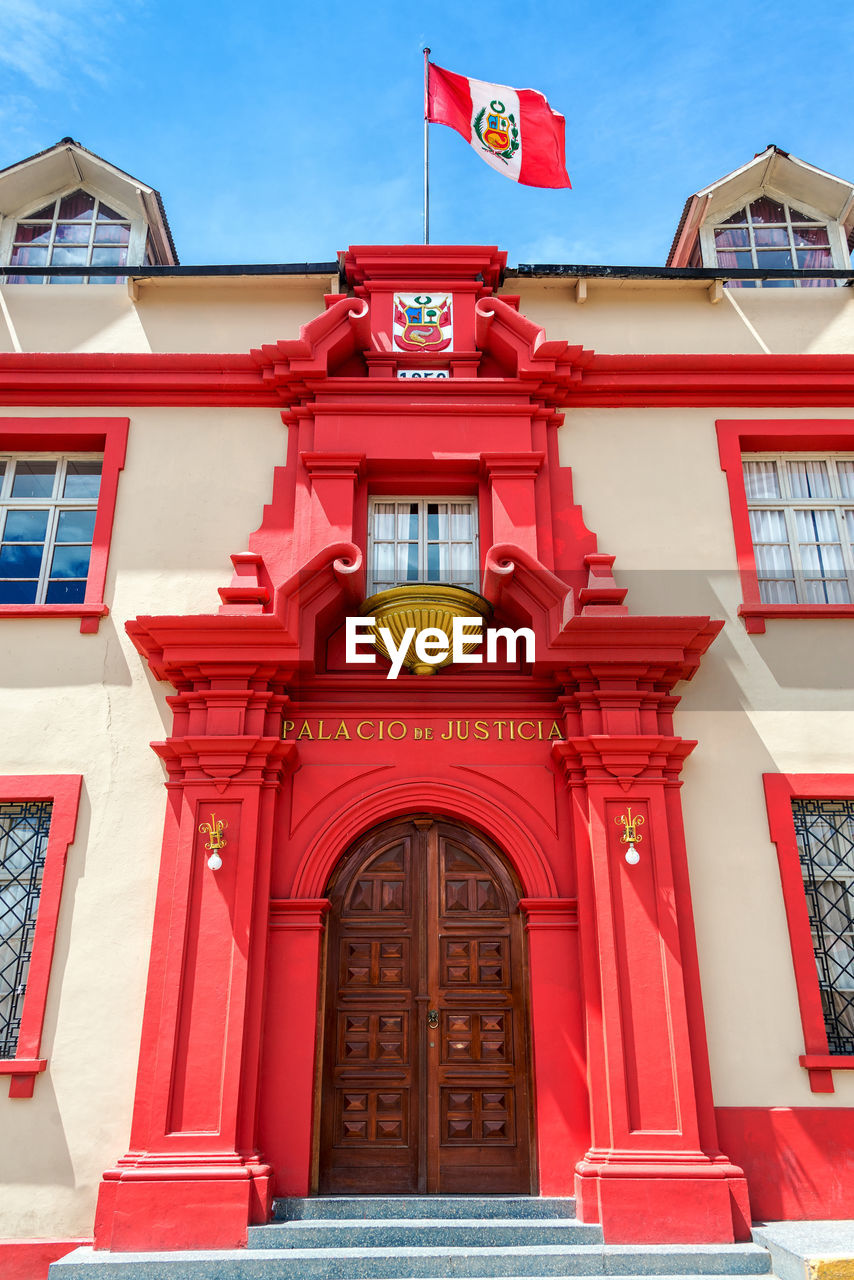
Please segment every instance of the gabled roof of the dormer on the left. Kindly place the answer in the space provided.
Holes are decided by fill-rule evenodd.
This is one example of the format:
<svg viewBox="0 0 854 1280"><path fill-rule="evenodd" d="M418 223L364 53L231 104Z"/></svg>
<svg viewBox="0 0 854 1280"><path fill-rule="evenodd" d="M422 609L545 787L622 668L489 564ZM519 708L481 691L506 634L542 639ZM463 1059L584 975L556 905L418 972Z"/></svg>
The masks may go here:
<svg viewBox="0 0 854 1280"><path fill-rule="evenodd" d="M0 169L0 216L19 215L51 195L74 186L92 187L108 200L111 197L131 209L141 207L157 261L164 266L178 265L160 192L81 146L74 138L60 138L55 146Z"/></svg>

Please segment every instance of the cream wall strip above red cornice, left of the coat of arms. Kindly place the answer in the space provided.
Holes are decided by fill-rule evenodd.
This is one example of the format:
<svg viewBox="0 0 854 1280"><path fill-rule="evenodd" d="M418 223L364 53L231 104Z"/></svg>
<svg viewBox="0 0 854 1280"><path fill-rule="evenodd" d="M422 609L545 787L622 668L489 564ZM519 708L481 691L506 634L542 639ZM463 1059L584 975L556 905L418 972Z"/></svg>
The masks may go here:
<svg viewBox="0 0 854 1280"><path fill-rule="evenodd" d="M0 352L248 352L294 338L337 278L166 276L125 284L0 285Z"/></svg>

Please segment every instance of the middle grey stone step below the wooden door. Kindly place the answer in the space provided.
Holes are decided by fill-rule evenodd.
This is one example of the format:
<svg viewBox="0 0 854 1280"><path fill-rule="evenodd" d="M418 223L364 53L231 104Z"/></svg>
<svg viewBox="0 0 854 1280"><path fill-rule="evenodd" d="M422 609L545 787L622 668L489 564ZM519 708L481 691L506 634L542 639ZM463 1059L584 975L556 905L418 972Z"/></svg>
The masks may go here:
<svg viewBox="0 0 854 1280"><path fill-rule="evenodd" d="M251 1226L250 1249L415 1248L467 1249L511 1244L598 1244L602 1229L574 1219L306 1219Z"/></svg>

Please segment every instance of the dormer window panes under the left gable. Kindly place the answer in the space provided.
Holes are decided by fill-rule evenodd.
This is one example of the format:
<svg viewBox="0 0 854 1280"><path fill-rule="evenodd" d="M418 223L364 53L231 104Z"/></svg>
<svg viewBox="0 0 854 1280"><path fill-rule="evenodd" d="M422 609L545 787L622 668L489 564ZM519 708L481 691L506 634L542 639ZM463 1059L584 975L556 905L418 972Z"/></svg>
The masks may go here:
<svg viewBox="0 0 854 1280"><path fill-rule="evenodd" d="M22 218L14 230L10 266L124 266L132 220L111 205L73 191ZM138 257L137 257L138 261ZM8 276L10 284L117 284L119 275Z"/></svg>

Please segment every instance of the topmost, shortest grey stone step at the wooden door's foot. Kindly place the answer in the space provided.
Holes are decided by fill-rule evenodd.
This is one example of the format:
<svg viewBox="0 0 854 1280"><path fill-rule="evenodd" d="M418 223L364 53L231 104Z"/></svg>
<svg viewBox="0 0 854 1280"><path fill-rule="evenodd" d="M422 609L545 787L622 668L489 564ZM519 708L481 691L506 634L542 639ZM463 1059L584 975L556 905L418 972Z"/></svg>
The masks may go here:
<svg viewBox="0 0 854 1280"><path fill-rule="evenodd" d="M369 1217L575 1217L571 1196L314 1196L277 1199L277 1221Z"/></svg>

